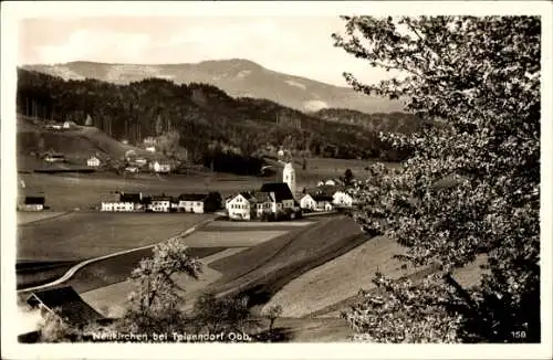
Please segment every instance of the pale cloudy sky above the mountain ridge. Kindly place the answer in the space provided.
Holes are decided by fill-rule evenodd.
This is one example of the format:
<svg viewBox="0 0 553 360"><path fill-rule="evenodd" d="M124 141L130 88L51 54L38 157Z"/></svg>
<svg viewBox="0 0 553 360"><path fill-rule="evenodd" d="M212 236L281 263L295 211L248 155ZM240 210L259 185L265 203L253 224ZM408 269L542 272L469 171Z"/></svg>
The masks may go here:
<svg viewBox="0 0 553 360"><path fill-rule="evenodd" d="M346 85L344 71L362 81L386 78L386 72L333 46L331 34L344 30L337 15L22 19L18 63L164 64L247 59L273 71L335 85Z"/></svg>

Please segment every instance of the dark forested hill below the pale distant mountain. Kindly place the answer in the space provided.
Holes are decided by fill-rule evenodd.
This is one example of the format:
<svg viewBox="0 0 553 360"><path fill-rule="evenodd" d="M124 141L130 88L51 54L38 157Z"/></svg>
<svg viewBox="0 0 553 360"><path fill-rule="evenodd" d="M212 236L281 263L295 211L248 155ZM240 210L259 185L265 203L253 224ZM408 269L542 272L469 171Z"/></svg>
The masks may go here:
<svg viewBox="0 0 553 360"><path fill-rule="evenodd" d="M392 156L376 133L359 125L325 121L267 99L232 98L206 84L147 78L127 85L97 80L64 81L18 70L18 108L23 115L93 125L116 139L139 144L176 131L180 145L201 161L210 144L254 155L284 145L314 156Z"/></svg>

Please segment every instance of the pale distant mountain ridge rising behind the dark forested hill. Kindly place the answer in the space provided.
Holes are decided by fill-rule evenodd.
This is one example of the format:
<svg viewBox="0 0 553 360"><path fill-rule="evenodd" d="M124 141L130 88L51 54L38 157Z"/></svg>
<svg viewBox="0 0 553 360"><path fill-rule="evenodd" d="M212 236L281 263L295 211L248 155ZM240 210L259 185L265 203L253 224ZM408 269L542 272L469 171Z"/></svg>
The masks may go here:
<svg viewBox="0 0 553 360"><path fill-rule="evenodd" d="M367 114L401 110L401 104L395 100L371 97L349 87L304 76L284 74L239 57L166 64L73 61L19 67L64 80L95 78L122 85L150 77L170 80L176 84L205 83L221 88L232 97L267 98L302 112L322 108L345 108Z"/></svg>

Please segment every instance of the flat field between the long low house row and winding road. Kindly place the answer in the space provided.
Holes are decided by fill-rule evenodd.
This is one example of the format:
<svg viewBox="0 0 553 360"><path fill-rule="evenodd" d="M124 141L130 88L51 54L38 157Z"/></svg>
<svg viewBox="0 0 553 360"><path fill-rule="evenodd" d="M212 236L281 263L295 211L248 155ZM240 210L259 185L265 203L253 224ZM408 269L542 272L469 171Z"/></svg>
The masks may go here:
<svg viewBox="0 0 553 360"><path fill-rule="evenodd" d="M155 244L209 214L74 212L18 226L18 262L81 261Z"/></svg>

